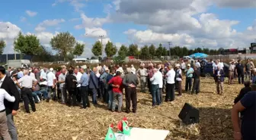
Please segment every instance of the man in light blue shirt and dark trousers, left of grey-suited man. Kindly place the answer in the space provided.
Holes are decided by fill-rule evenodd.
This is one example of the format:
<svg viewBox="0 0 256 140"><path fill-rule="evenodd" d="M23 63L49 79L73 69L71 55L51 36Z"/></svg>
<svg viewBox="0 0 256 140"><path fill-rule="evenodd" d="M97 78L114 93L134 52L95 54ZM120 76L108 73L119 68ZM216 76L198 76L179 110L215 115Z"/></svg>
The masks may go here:
<svg viewBox="0 0 256 140"><path fill-rule="evenodd" d="M85 73L85 69L81 68L82 78L78 82L81 84L81 92L82 92L82 108L90 107L90 102L88 98L88 85L89 85L89 76L87 73Z"/></svg>

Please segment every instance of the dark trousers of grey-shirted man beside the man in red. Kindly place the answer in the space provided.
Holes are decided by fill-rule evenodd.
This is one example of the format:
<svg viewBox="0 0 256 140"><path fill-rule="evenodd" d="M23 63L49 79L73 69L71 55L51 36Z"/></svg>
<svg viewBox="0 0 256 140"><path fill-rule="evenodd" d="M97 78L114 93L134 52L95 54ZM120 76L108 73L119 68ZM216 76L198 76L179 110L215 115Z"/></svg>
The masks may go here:
<svg viewBox="0 0 256 140"><path fill-rule="evenodd" d="M126 97L126 112L130 113L130 101L133 103L133 112L136 113L137 110L137 91L136 88L126 88L125 89Z"/></svg>

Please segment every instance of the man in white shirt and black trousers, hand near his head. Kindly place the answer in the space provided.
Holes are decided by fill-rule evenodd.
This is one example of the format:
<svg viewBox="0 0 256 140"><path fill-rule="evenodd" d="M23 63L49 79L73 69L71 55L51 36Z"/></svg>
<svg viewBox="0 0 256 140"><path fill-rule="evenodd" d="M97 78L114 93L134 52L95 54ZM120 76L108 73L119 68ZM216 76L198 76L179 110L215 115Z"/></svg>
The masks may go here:
<svg viewBox="0 0 256 140"><path fill-rule="evenodd" d="M176 73L174 69L171 67L171 65L169 65L168 73L166 73L167 85L165 101L174 101L175 75Z"/></svg>

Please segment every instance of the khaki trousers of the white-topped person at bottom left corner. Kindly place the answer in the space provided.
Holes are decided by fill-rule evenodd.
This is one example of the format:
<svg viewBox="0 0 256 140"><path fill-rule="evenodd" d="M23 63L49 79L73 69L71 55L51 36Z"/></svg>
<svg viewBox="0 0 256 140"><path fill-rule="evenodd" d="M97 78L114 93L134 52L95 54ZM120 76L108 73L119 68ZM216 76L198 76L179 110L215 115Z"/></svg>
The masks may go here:
<svg viewBox="0 0 256 140"><path fill-rule="evenodd" d="M11 140L11 136L8 132L7 117L5 111L0 113L0 134L5 140Z"/></svg>

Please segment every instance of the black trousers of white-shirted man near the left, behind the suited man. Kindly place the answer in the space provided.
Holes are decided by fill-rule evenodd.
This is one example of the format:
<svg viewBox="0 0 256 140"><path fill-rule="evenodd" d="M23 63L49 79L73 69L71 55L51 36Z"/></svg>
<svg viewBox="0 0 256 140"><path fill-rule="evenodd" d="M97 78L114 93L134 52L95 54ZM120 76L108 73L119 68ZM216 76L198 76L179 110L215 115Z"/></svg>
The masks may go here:
<svg viewBox="0 0 256 140"><path fill-rule="evenodd" d="M28 88L21 89L21 97L23 98L24 107L25 107L25 110L27 113L30 113L29 106L28 106L29 103L30 103L32 110L36 111L36 105L33 100L31 89L28 89Z"/></svg>

